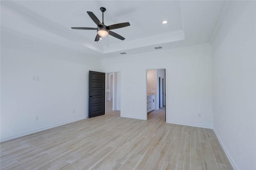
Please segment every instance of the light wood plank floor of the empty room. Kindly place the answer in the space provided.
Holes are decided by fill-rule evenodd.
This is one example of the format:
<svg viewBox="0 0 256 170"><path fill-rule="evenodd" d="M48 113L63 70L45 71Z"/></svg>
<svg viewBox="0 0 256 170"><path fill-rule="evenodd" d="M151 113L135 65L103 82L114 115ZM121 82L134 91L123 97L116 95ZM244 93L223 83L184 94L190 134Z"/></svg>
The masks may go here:
<svg viewBox="0 0 256 170"><path fill-rule="evenodd" d="M168 124L119 111L27 135L1 145L2 170L232 170L211 129Z"/></svg>

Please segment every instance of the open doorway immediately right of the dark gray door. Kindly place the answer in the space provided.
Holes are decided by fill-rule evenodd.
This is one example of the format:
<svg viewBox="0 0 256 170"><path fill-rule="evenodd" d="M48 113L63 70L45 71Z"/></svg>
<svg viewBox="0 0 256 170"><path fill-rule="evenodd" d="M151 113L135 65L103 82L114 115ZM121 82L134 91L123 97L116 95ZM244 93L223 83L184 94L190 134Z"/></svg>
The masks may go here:
<svg viewBox="0 0 256 170"><path fill-rule="evenodd" d="M106 113L120 113L121 73L106 73Z"/></svg>

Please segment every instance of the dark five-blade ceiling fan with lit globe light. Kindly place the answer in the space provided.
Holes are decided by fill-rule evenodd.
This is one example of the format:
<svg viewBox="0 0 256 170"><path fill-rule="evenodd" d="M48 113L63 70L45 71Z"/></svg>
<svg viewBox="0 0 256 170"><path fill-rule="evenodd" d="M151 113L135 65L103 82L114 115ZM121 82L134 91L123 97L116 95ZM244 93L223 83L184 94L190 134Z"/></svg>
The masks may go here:
<svg viewBox="0 0 256 170"><path fill-rule="evenodd" d="M97 30L97 35L95 37L94 41L99 41L101 37L106 37L108 34L112 35L113 37L116 37L118 39L124 40L125 38L121 35L114 33L113 31L110 31L110 29L117 29L122 27L130 26L129 22L124 23L116 23L113 25L106 26L104 24L104 12L106 11L106 8L100 7L100 10L102 12L102 22L90 11L87 11L88 15L92 20L96 23L97 28L90 28L90 27L71 27L72 29L90 29L90 30Z"/></svg>

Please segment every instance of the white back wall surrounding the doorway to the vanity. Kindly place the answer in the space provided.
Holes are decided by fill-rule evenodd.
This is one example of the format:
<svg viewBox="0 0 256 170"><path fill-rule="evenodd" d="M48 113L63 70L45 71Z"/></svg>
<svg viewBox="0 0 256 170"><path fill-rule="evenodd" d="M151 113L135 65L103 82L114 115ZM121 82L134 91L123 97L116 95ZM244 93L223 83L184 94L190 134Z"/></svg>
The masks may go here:
<svg viewBox="0 0 256 170"><path fill-rule="evenodd" d="M104 72L122 74L121 116L146 119L146 70L157 68L166 68L166 121L212 127L210 45L102 59Z"/></svg>

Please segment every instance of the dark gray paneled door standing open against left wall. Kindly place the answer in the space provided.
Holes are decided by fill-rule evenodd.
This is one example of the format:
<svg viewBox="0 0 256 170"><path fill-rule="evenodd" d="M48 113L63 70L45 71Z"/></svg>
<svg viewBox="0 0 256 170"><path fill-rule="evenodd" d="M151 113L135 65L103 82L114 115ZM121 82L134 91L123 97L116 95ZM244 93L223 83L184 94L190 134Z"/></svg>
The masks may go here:
<svg viewBox="0 0 256 170"><path fill-rule="evenodd" d="M89 71L89 118L105 114L105 73Z"/></svg>

